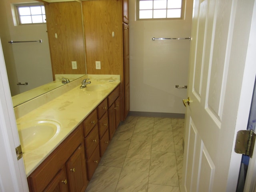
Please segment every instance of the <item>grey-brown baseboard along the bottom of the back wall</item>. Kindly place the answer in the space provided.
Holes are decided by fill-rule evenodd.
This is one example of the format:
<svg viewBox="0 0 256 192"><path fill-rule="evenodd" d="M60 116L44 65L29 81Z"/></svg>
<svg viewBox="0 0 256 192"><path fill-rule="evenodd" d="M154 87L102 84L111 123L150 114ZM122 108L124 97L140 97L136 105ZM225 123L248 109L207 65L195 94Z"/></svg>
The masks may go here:
<svg viewBox="0 0 256 192"><path fill-rule="evenodd" d="M140 117L161 117L161 118L176 118L176 119L184 119L185 118L185 114L182 114L182 113L129 111L128 115L129 116L140 116Z"/></svg>

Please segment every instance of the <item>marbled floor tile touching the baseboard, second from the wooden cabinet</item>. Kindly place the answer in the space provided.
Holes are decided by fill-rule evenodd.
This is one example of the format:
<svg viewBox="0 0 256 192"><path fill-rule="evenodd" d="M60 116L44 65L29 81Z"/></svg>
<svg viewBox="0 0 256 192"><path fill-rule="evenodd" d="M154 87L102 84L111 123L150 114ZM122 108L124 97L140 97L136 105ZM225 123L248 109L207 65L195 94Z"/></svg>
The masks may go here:
<svg viewBox="0 0 256 192"><path fill-rule="evenodd" d="M133 134L136 135L152 135L154 126L154 118L138 117Z"/></svg>

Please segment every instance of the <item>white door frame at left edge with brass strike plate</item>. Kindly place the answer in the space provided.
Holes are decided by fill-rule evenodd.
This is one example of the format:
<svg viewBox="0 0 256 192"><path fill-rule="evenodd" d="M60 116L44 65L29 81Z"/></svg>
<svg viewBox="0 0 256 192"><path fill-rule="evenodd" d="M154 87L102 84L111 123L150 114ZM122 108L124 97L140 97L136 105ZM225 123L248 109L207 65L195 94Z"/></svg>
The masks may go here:
<svg viewBox="0 0 256 192"><path fill-rule="evenodd" d="M0 40L0 192L27 192L23 158L17 160L20 145L12 98Z"/></svg>

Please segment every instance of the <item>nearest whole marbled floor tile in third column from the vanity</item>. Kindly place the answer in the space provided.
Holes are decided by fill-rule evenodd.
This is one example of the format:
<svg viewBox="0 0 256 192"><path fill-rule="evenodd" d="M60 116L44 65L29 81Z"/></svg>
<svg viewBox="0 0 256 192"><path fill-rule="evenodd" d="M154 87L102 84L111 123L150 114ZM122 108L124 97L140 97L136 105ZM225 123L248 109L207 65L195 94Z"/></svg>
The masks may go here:
<svg viewBox="0 0 256 192"><path fill-rule="evenodd" d="M179 186L174 153L152 151L148 183Z"/></svg>

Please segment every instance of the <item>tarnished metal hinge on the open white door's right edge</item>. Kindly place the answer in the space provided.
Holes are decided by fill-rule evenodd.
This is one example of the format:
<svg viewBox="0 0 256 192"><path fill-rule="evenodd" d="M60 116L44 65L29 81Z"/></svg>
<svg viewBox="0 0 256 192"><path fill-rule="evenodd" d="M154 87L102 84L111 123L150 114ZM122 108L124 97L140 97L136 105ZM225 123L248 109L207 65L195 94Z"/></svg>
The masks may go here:
<svg viewBox="0 0 256 192"><path fill-rule="evenodd" d="M240 130L236 134L235 152L252 157L256 134L253 130Z"/></svg>

